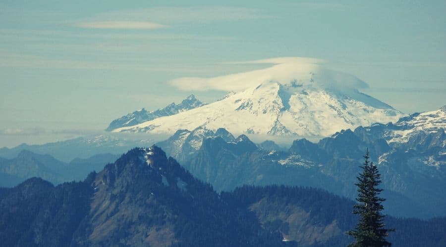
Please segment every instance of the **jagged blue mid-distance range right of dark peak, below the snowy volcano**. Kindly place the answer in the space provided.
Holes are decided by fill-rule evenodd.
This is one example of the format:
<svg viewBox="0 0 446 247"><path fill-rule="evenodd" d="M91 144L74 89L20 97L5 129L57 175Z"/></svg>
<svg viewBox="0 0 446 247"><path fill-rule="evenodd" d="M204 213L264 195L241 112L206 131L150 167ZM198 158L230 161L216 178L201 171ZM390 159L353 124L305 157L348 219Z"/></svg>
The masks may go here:
<svg viewBox="0 0 446 247"><path fill-rule="evenodd" d="M362 155L369 148L383 173L390 214L446 215L446 107L401 118L395 124L372 124L342 130L318 143L298 139L287 151L274 142L256 145L220 128L178 130L157 145L195 176L220 190L243 184L287 184L325 188L354 198Z"/></svg>

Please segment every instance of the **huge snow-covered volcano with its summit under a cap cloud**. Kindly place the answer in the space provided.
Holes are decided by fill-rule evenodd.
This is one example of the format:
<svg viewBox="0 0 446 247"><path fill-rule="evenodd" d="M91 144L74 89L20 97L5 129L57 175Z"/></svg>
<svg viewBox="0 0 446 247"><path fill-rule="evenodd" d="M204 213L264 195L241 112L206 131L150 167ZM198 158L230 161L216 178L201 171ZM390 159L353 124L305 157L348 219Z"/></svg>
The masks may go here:
<svg viewBox="0 0 446 247"><path fill-rule="evenodd" d="M113 131L173 134L178 129L206 126L214 131L224 127L237 135L317 140L341 129L395 122L404 116L378 99L361 93L357 87L365 83L353 76L314 64L278 66L281 65L291 66L286 67L286 71L293 69L295 73L278 78L249 78L258 83L247 82L253 86L214 103Z"/></svg>

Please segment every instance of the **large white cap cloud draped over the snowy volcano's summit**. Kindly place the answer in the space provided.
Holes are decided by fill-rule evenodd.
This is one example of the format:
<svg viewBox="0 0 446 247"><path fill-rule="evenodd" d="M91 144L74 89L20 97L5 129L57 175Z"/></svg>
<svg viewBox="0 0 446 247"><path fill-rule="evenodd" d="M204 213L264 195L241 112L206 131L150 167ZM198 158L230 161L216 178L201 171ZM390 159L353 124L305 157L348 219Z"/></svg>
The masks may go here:
<svg viewBox="0 0 446 247"><path fill-rule="evenodd" d="M302 57L279 57L228 64L273 64L273 66L254 71L230 74L213 78L184 77L169 81L181 90L222 90L240 91L260 83L277 81L283 84L315 83L325 88L349 90L366 88L368 85L358 78L326 69L324 60Z"/></svg>

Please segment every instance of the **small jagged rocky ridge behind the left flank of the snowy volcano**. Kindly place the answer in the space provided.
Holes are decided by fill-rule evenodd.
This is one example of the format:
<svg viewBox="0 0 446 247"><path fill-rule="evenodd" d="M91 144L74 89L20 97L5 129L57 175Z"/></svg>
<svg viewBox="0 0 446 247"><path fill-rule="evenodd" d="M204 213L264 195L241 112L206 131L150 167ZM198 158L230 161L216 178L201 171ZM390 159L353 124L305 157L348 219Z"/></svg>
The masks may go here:
<svg viewBox="0 0 446 247"><path fill-rule="evenodd" d="M156 111L148 112L146 109L142 108L141 110L134 111L125 116L122 116L118 119L113 120L109 127L107 127L107 131L111 131L116 128L125 127L125 126L133 126L136 124L141 124L146 121L154 120L156 118L170 116L174 114L178 114L180 112L184 112L190 109L194 109L200 106L205 105L203 102L195 98L195 95L191 94L187 98L185 98L181 103L175 104L171 103L163 109L158 109Z"/></svg>

